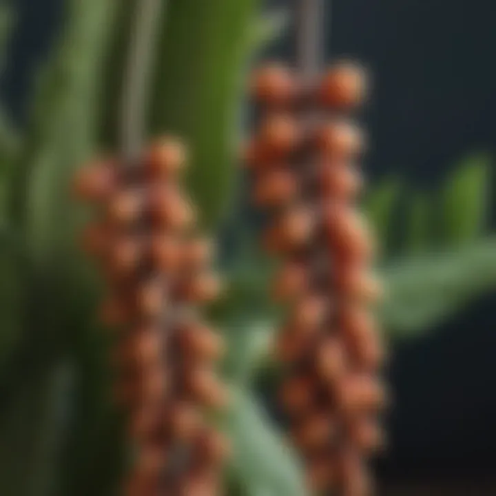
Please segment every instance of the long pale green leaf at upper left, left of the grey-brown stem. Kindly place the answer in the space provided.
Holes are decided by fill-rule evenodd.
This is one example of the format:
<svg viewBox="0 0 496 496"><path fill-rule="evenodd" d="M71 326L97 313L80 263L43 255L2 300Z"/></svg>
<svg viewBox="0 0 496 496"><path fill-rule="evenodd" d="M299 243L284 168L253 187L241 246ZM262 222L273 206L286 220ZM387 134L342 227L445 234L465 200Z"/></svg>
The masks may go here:
<svg viewBox="0 0 496 496"><path fill-rule="evenodd" d="M37 85L13 205L37 260L61 264L59 257L74 242L81 216L70 183L94 147L99 76L115 3L68 1L59 45Z"/></svg>

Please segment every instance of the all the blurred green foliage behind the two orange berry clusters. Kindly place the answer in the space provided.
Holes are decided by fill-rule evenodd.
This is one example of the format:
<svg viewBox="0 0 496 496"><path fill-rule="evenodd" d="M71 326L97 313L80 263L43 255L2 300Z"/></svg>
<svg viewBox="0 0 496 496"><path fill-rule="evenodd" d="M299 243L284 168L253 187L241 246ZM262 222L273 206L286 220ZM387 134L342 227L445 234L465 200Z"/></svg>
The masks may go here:
<svg viewBox="0 0 496 496"><path fill-rule="evenodd" d="M75 240L85 214L70 198L76 167L115 149L134 0L61 1L61 29L37 69L28 116L0 110L0 494L111 495L125 459L112 406L112 336L96 318L99 284ZM0 3L0 69L16 29ZM273 262L256 242L246 178L236 160L247 119L250 61L287 27L258 0L170 0L156 44L147 134L185 136L187 185L202 226L218 233L229 284L213 309L229 342L234 440L229 495L301 496L298 462L268 400L278 310ZM496 286L488 229L493 157L474 152L435 189L400 175L369 185L364 209L382 245L387 298L378 309L394 350Z"/></svg>

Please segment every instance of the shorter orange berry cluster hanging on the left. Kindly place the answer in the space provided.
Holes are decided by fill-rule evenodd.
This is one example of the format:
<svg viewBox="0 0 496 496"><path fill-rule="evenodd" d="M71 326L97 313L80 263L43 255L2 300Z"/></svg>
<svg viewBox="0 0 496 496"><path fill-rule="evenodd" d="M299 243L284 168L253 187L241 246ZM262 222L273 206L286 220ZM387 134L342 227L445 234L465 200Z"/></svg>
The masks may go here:
<svg viewBox="0 0 496 496"><path fill-rule="evenodd" d="M83 246L107 283L102 318L119 331L115 393L134 453L126 496L216 496L229 451L205 415L227 400L214 369L223 342L198 315L220 284L180 187L185 162L183 145L167 137L136 167L96 161L75 181L96 207Z"/></svg>

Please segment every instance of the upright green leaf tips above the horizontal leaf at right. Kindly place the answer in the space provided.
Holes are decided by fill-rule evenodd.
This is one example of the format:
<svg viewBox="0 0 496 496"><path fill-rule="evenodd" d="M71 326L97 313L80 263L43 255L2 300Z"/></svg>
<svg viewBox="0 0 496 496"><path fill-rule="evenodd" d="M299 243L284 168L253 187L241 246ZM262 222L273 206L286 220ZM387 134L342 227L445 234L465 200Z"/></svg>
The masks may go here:
<svg viewBox="0 0 496 496"><path fill-rule="evenodd" d="M386 179L373 188L364 210L384 253L397 244L407 253L419 253L435 246L466 245L481 236L487 221L491 161L483 153L466 157L437 196L409 192L397 179ZM398 218L404 219L402 223Z"/></svg>

